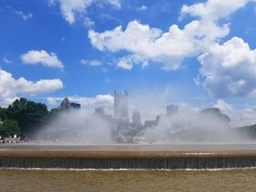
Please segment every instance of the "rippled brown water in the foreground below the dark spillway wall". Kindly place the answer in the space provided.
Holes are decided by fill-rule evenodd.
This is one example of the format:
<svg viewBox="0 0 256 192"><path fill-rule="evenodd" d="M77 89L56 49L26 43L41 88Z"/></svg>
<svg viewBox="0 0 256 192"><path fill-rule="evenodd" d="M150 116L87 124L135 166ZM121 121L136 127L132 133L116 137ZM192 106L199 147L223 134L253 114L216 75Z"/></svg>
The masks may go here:
<svg viewBox="0 0 256 192"><path fill-rule="evenodd" d="M256 169L102 171L0 169L1 191L255 191Z"/></svg>

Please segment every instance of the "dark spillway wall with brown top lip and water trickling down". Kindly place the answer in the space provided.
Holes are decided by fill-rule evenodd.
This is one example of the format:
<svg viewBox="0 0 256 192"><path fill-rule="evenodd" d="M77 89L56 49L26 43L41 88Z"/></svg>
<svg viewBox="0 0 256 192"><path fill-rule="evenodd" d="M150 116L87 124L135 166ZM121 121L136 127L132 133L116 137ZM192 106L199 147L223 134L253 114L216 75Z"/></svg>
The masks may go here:
<svg viewBox="0 0 256 192"><path fill-rule="evenodd" d="M0 167L46 169L225 169L256 167L256 152L0 151Z"/></svg>

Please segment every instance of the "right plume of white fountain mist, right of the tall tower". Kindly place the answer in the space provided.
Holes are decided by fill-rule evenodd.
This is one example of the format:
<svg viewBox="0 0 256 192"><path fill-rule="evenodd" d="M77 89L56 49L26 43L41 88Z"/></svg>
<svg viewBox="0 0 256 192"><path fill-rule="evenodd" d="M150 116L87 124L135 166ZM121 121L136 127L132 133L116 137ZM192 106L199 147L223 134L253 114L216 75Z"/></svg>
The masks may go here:
<svg viewBox="0 0 256 192"><path fill-rule="evenodd" d="M146 128L143 135L150 143L169 142L242 142L241 135L217 114L203 114L179 107L177 114L160 115L156 126Z"/></svg>

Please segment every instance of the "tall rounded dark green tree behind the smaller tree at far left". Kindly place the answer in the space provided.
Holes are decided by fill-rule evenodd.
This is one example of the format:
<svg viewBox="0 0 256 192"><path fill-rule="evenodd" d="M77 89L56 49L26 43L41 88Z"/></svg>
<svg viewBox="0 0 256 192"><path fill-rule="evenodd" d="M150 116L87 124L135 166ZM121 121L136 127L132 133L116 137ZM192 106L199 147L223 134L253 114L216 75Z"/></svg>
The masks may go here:
<svg viewBox="0 0 256 192"><path fill-rule="evenodd" d="M9 118L18 121L22 134L31 134L45 123L48 109L45 104L27 101L25 98L16 99L7 108Z"/></svg>

